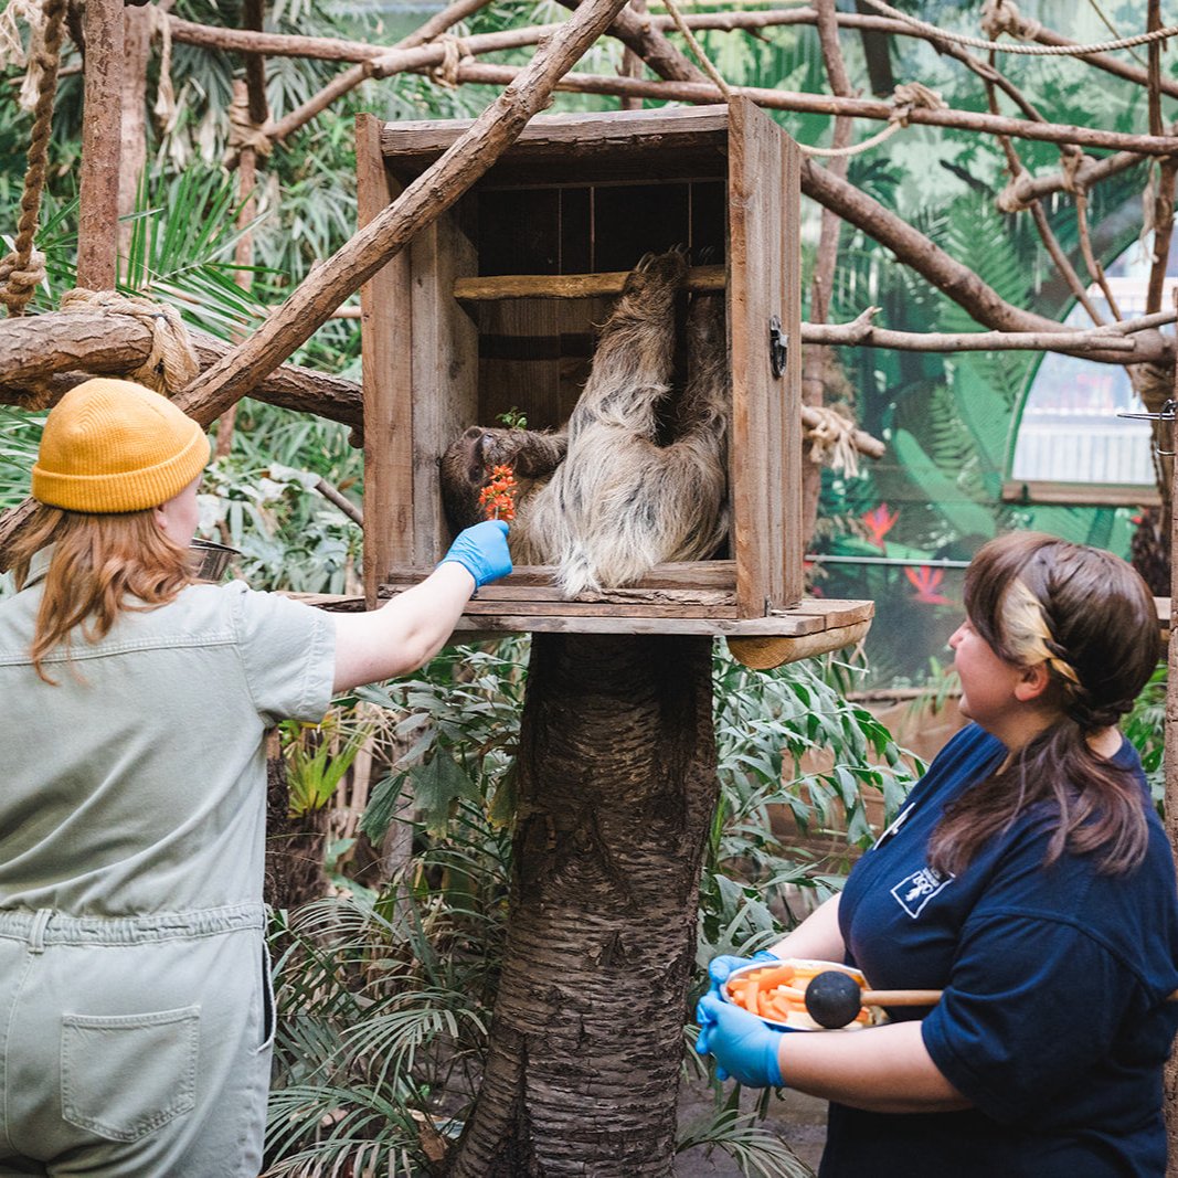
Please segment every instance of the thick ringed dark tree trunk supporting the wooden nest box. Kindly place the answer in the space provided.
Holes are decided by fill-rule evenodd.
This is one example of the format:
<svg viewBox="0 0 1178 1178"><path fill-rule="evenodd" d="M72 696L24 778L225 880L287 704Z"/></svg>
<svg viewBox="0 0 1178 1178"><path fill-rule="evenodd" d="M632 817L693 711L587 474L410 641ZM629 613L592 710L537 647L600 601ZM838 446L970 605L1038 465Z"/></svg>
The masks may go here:
<svg viewBox="0 0 1178 1178"><path fill-rule="evenodd" d="M536 634L503 974L451 1178L673 1172L712 643Z"/></svg>

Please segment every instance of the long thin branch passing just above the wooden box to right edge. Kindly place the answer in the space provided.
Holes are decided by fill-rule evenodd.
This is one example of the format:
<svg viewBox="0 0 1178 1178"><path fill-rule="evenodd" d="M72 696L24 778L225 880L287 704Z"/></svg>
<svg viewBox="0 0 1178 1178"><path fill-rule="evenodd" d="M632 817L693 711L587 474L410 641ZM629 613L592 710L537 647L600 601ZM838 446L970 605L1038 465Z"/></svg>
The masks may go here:
<svg viewBox="0 0 1178 1178"><path fill-rule="evenodd" d="M481 85L509 82L516 71L510 66L491 66L481 62L459 64L458 80ZM723 95L710 82L648 81L634 78L609 78L601 74L567 74L557 90L582 94L635 94L662 100L679 99L686 102L712 104L723 100ZM895 113L891 102L873 99L834 98L828 94L803 94L798 91L765 90L757 86L734 86L740 94L774 111L795 111L807 114L854 115L863 119L888 121ZM1178 154L1178 135L1134 135L1092 127L1077 127L1059 123L1031 123L1026 119L995 118L974 111L915 108L907 115L908 123L925 126L957 127L962 131L980 131L988 134L1014 135L1040 143L1078 144L1087 147L1105 147L1111 151L1132 151L1139 155Z"/></svg>

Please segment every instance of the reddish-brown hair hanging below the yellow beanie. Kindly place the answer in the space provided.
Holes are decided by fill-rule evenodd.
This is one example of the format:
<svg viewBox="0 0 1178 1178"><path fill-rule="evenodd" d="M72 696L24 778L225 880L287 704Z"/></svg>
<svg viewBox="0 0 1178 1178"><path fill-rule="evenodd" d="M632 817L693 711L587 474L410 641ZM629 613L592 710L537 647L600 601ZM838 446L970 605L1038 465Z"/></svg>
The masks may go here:
<svg viewBox="0 0 1178 1178"><path fill-rule="evenodd" d="M47 544L54 548L31 647L46 683L55 680L45 671L45 657L58 646L68 655L75 627L97 642L123 610L164 605L194 580L187 552L161 531L152 510L91 515L38 505L11 545L18 589L33 554Z"/></svg>

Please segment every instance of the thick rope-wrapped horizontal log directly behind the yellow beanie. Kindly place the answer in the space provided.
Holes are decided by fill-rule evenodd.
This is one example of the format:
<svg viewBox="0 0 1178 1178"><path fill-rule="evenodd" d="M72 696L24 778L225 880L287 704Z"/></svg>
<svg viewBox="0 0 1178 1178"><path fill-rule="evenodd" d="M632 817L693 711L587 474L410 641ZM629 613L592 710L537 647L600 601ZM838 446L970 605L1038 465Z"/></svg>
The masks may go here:
<svg viewBox="0 0 1178 1178"><path fill-rule="evenodd" d="M190 331L201 368L231 350L224 340ZM0 320L0 404L28 404L48 393L49 404L91 376L124 376L146 363L152 332L130 315L113 311L51 311ZM284 364L253 390L258 401L316 413L352 430L363 424L355 380Z"/></svg>

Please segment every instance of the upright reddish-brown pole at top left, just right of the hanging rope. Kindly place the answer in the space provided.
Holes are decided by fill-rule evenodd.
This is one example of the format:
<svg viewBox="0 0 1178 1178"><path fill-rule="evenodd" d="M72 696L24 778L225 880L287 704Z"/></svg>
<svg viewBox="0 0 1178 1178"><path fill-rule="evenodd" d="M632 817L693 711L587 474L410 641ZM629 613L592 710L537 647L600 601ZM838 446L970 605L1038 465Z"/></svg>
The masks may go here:
<svg viewBox="0 0 1178 1178"><path fill-rule="evenodd" d="M88 0L82 82L78 285L114 290L123 147L123 0Z"/></svg>

